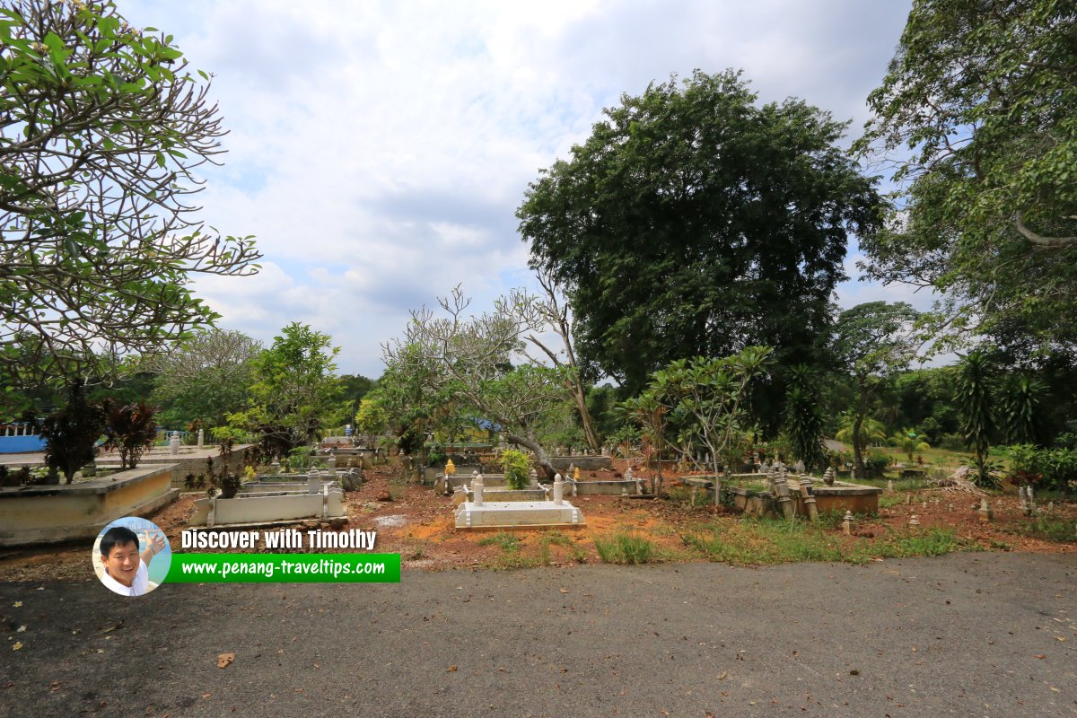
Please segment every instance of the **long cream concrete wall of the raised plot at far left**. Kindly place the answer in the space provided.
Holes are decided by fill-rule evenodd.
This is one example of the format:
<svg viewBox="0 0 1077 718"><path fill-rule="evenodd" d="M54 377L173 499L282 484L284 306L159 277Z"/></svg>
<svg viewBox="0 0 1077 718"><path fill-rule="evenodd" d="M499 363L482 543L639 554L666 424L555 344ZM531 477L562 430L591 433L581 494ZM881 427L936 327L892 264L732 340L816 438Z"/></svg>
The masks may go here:
<svg viewBox="0 0 1077 718"><path fill-rule="evenodd" d="M0 546L94 538L124 516L146 516L176 499L171 464L55 487L0 489Z"/></svg>

